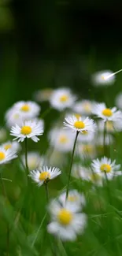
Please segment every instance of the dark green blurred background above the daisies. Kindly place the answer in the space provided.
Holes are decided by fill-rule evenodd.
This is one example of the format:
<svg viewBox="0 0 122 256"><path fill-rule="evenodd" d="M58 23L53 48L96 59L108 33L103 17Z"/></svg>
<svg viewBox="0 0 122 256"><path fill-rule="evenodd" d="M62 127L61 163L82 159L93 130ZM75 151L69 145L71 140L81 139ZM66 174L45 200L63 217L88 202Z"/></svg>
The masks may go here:
<svg viewBox="0 0 122 256"><path fill-rule="evenodd" d="M122 68L119 7L117 1L0 0L1 123L13 102L45 87L72 87L101 100L91 74ZM112 102L121 78L109 90Z"/></svg>

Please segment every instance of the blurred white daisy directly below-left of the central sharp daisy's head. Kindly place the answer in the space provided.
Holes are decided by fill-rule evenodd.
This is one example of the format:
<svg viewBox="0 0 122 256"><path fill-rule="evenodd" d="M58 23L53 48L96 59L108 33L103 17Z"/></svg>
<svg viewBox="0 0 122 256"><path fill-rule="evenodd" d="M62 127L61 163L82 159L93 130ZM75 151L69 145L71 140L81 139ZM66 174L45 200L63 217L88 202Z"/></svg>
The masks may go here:
<svg viewBox="0 0 122 256"><path fill-rule="evenodd" d="M50 134L50 145L61 152L72 150L74 143L74 135L63 128L54 128Z"/></svg>

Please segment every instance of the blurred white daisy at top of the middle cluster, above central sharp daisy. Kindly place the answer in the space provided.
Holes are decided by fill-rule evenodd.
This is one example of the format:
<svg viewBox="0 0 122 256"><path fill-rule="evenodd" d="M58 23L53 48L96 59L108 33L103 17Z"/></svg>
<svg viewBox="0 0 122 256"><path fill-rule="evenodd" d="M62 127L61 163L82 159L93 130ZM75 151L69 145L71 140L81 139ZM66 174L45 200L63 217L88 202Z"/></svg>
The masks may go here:
<svg viewBox="0 0 122 256"><path fill-rule="evenodd" d="M56 89L50 97L50 105L54 109L64 110L72 107L76 97L72 95L72 92L68 88Z"/></svg>

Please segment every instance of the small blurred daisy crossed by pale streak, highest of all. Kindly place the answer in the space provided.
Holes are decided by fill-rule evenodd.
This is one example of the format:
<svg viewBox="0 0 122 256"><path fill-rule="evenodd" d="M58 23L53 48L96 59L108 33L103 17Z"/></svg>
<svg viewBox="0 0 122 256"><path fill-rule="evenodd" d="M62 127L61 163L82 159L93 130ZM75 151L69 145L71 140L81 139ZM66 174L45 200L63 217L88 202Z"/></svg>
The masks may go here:
<svg viewBox="0 0 122 256"><path fill-rule="evenodd" d="M113 74L113 72L110 70L103 70L103 71L95 72L92 75L93 85L96 87L113 85L113 83L115 82L115 76L110 76L112 74ZM106 79L108 76L110 76L110 77L108 79Z"/></svg>

